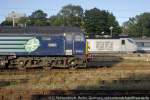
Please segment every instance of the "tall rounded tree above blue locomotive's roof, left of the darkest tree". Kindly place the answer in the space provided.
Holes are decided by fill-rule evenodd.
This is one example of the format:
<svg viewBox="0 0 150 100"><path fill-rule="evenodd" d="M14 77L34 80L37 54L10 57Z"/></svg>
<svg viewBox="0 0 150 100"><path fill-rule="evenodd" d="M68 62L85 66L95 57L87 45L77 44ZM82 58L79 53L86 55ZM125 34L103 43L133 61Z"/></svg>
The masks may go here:
<svg viewBox="0 0 150 100"><path fill-rule="evenodd" d="M64 6L57 16L52 16L51 25L81 26L83 9L80 6Z"/></svg>

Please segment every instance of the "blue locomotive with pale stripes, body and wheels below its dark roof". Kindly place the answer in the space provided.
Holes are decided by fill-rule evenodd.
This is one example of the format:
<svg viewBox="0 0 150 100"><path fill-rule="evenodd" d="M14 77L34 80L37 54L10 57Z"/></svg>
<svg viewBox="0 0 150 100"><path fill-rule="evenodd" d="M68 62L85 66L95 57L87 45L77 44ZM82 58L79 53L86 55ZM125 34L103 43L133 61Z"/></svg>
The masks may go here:
<svg viewBox="0 0 150 100"><path fill-rule="evenodd" d="M0 34L0 68L85 67L82 33Z"/></svg>

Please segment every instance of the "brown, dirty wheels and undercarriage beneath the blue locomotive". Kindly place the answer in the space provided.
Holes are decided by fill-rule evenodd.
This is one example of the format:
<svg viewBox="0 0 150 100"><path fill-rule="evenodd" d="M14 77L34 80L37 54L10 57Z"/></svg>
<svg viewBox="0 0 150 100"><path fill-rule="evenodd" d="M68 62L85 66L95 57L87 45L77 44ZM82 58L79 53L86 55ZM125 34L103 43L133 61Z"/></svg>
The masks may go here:
<svg viewBox="0 0 150 100"><path fill-rule="evenodd" d="M7 65L7 66L5 66ZM29 68L73 68L82 67L85 65L84 58L77 57L16 57L14 59L6 59L1 62L1 66L8 68L17 68L25 70Z"/></svg>

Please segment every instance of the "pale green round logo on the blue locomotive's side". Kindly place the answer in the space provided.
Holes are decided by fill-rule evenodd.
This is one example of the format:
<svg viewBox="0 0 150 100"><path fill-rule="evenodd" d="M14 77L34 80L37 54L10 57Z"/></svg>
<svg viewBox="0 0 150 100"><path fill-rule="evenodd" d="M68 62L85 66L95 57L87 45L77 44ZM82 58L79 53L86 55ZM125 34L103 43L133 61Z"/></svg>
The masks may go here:
<svg viewBox="0 0 150 100"><path fill-rule="evenodd" d="M40 41L37 38L28 40L25 44L25 50L27 52L33 52L40 46Z"/></svg>

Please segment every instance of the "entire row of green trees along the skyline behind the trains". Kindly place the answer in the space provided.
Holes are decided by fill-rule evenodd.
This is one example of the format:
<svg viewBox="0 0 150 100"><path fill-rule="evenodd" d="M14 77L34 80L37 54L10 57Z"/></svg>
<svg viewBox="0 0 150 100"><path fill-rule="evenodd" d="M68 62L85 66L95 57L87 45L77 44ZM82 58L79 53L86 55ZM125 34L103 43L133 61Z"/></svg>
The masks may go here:
<svg viewBox="0 0 150 100"><path fill-rule="evenodd" d="M12 20L5 20L2 26L12 26ZM66 5L57 15L47 17L47 13L42 10L34 11L30 16L17 19L16 25L22 26L76 26L85 30L86 33L110 33L113 27L113 35L118 35L122 31L130 36L142 37L150 36L150 13L143 13L130 18L120 27L115 16L98 8L83 10L78 5Z"/></svg>

